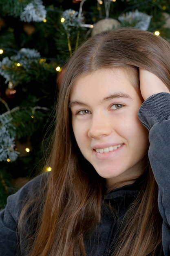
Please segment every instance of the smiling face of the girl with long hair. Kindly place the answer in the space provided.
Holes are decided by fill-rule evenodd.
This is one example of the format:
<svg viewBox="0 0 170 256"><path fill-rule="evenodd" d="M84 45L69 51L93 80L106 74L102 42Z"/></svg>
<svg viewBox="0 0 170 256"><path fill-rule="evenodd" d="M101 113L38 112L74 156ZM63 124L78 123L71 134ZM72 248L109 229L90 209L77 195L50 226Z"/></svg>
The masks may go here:
<svg viewBox="0 0 170 256"><path fill-rule="evenodd" d="M70 97L75 139L107 185L132 183L144 172L148 130L137 113L142 104L131 74L97 70L82 76Z"/></svg>

